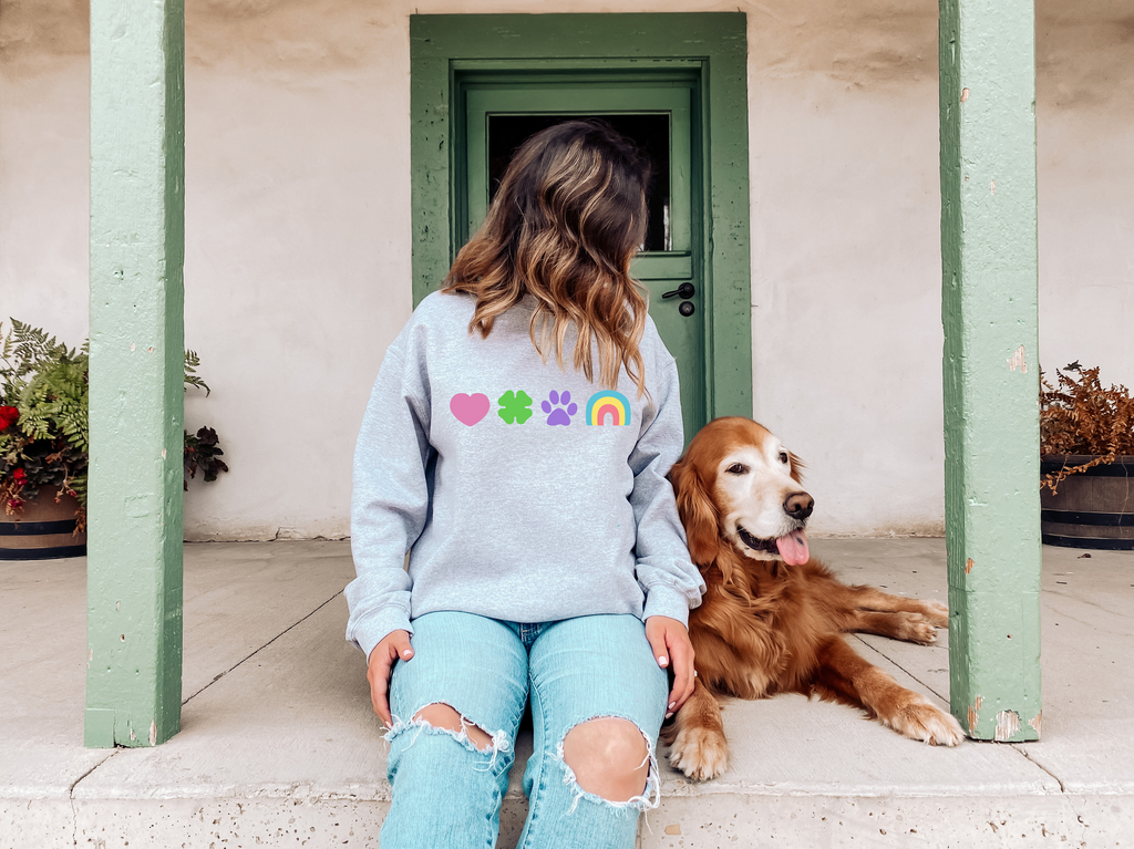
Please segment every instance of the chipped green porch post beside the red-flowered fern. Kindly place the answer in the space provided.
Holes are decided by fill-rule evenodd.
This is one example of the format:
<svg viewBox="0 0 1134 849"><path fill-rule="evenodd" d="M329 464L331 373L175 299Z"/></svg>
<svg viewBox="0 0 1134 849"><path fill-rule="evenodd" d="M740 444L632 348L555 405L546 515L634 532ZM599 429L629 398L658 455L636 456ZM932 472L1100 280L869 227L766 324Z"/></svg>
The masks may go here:
<svg viewBox="0 0 1134 849"><path fill-rule="evenodd" d="M91 2L88 747L181 706L181 0Z"/></svg>

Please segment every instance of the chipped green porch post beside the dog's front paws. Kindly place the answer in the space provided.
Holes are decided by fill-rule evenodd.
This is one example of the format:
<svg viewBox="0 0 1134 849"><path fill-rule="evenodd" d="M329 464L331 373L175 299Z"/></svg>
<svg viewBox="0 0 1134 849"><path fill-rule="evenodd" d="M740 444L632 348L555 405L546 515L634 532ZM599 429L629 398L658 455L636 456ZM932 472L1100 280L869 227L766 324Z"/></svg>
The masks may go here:
<svg viewBox="0 0 1134 849"><path fill-rule="evenodd" d="M1032 0L941 0L950 702L968 736L1040 737Z"/></svg>

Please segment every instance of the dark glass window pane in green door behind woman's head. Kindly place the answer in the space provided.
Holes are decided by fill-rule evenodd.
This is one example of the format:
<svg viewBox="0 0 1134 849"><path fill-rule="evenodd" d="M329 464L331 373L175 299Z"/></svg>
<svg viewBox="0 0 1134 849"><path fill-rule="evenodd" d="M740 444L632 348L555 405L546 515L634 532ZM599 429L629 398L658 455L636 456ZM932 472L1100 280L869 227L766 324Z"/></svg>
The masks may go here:
<svg viewBox="0 0 1134 849"><path fill-rule="evenodd" d="M496 197L505 169L516 148L541 129L585 116L564 114L490 114L489 116L489 199ZM631 138L650 160L650 186L646 206L646 251L670 251L669 230L669 116L603 114L617 131Z"/></svg>

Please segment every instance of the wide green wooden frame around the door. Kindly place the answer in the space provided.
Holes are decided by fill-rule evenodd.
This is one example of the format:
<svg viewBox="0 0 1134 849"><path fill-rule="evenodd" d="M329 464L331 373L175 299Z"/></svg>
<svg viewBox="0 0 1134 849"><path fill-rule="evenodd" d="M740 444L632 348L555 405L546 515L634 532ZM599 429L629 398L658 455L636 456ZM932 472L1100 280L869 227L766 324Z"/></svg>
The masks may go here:
<svg viewBox="0 0 1134 849"><path fill-rule="evenodd" d="M414 305L445 279L463 243L455 197L463 151L454 93L477 71L696 75L703 120L705 399L708 418L752 415L747 32L736 12L413 15L409 18Z"/></svg>

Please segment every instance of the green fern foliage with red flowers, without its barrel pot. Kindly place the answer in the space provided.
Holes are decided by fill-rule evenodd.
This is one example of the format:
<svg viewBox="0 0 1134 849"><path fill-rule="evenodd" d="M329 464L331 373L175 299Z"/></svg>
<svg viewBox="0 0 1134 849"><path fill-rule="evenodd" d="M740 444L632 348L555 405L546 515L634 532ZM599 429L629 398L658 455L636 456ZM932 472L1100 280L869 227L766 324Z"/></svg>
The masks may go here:
<svg viewBox="0 0 1134 849"><path fill-rule="evenodd" d="M54 490L77 499L82 529L86 520L86 484L90 466L90 354L87 345L68 348L40 328L11 320L3 332L0 323L0 501L5 511L18 515L41 490ZM201 360L185 353L185 383L209 385L196 374ZM202 427L185 433L185 472L194 477L201 468L205 481L228 472L217 432Z"/></svg>

